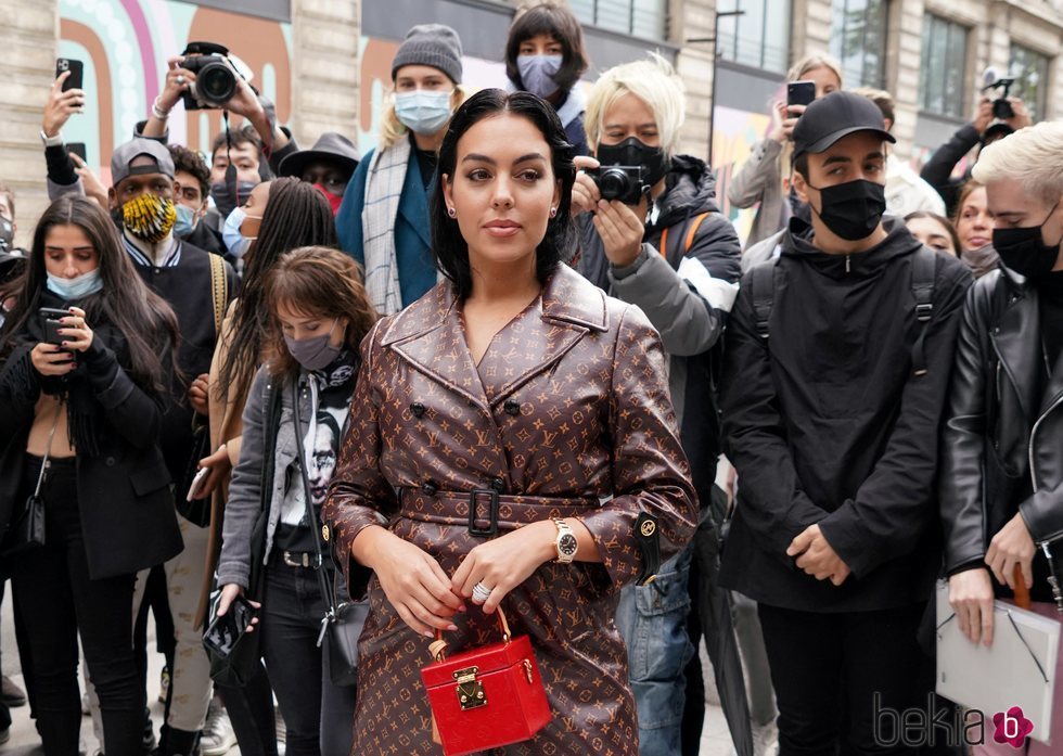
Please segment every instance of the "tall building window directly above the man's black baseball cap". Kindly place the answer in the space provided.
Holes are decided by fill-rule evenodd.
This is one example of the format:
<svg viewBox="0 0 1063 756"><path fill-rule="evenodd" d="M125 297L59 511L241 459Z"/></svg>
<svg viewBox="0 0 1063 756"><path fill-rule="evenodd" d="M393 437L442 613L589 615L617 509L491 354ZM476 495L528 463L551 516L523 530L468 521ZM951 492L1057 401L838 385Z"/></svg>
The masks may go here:
<svg viewBox="0 0 1063 756"><path fill-rule="evenodd" d="M834 0L831 52L842 62L845 88L886 86L887 0Z"/></svg>

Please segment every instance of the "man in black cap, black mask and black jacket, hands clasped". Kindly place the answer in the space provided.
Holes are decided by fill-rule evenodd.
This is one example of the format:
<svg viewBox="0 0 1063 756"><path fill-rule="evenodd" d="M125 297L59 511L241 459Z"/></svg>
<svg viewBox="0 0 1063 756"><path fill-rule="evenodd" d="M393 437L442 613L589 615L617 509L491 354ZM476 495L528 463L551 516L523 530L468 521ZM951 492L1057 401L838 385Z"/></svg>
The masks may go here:
<svg viewBox="0 0 1063 756"><path fill-rule="evenodd" d="M900 718L879 715L930 690L915 633L971 274L883 219L893 141L865 97L808 106L792 181L811 223L791 220L780 257L745 276L726 333L739 490L719 581L759 603L783 756L897 753Z"/></svg>

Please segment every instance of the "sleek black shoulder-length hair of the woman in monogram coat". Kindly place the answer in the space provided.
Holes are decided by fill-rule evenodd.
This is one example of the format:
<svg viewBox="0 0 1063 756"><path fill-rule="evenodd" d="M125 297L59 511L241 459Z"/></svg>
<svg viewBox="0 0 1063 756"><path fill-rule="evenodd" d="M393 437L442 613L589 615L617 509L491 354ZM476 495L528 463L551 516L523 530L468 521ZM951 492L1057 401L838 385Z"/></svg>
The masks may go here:
<svg viewBox="0 0 1063 756"><path fill-rule="evenodd" d="M458 220L447 215L447 203L443 195L444 175L453 183L458 163L458 141L475 124L484 118L512 113L530 120L550 145L550 165L554 180L561 187L561 202L558 215L547 222L547 233L536 247L535 273L540 283L558 267L568 262L575 252L575 231L569 217L572 206L572 185L576 181L576 166L573 163L573 146L565 138L565 128L558 113L545 100L528 92L507 93L501 89L485 89L469 98L450 119L450 128L439 148L438 176L432 195L432 252L439 271L450 280L459 297L472 293L473 278L469 266L469 244L461 235Z"/></svg>

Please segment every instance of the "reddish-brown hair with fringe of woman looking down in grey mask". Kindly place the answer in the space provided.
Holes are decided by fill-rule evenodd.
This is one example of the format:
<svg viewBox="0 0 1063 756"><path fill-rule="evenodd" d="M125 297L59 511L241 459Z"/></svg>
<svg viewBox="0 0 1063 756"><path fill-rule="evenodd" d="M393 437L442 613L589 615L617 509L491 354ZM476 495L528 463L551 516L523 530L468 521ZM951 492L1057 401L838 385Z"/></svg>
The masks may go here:
<svg viewBox="0 0 1063 756"><path fill-rule="evenodd" d="M281 304L309 317L346 318L344 343L348 349L358 351L361 339L379 317L361 280L361 268L354 258L332 247L292 249L277 260L266 281L272 375L291 376L299 372L299 363L287 350L277 317Z"/></svg>

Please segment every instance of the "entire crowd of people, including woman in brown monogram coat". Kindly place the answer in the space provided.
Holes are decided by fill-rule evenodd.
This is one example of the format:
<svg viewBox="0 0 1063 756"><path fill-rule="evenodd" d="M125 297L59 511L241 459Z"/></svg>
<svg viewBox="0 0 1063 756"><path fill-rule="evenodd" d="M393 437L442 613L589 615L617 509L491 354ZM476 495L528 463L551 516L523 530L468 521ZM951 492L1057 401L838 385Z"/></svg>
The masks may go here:
<svg viewBox="0 0 1063 756"><path fill-rule="evenodd" d="M1063 611L1063 124L983 100L918 175L889 93L804 59L728 187L743 244L671 65L585 87L562 4L475 93L412 27L364 155L300 149L235 65L245 124L170 144L202 54L110 187L56 78L27 249L0 184L0 560L44 753L81 747L78 641L106 756L441 753L421 669L500 615L550 718L490 753L695 755L709 684L740 756L961 753L873 706L955 708L939 580L971 643L995 599Z"/></svg>

